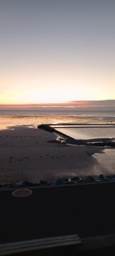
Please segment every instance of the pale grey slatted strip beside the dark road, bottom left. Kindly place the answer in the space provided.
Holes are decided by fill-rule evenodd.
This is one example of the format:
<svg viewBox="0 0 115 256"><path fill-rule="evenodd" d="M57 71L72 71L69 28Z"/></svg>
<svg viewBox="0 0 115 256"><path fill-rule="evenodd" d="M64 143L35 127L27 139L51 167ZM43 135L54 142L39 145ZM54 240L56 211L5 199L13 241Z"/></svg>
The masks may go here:
<svg viewBox="0 0 115 256"><path fill-rule="evenodd" d="M78 234L0 244L0 255L81 244Z"/></svg>

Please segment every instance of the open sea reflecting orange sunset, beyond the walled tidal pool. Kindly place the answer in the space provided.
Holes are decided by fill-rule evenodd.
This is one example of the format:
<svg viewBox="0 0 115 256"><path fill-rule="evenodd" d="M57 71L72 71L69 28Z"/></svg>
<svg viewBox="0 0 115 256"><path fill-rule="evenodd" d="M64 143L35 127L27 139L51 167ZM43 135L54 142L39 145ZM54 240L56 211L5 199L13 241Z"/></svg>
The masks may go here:
<svg viewBox="0 0 115 256"><path fill-rule="evenodd" d="M115 111L0 110L0 129L42 123L115 123Z"/></svg>

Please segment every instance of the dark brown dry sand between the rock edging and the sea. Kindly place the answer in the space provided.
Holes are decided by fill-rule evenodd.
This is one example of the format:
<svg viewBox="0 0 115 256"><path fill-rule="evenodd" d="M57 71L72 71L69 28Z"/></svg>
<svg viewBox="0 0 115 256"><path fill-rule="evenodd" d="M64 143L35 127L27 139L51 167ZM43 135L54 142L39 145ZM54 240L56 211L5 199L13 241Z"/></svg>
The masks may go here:
<svg viewBox="0 0 115 256"><path fill-rule="evenodd" d="M0 131L0 183L99 175L94 153L103 148L56 143L55 134L27 126Z"/></svg>

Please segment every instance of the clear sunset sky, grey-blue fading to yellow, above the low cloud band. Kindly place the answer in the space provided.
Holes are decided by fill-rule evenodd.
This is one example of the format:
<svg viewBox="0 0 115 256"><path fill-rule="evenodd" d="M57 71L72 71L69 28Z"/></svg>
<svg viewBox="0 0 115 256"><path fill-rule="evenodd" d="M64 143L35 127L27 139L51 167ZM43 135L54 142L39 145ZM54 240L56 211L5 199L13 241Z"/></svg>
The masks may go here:
<svg viewBox="0 0 115 256"><path fill-rule="evenodd" d="M0 104L115 99L114 0L0 0Z"/></svg>

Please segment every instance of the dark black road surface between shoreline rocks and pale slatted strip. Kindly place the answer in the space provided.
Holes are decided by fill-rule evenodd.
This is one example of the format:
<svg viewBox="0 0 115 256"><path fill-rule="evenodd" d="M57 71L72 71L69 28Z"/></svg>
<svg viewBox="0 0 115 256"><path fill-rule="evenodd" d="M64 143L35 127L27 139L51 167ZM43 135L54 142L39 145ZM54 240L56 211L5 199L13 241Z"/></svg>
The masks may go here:
<svg viewBox="0 0 115 256"><path fill-rule="evenodd" d="M115 233L115 183L32 188L24 198L13 190L0 191L0 243Z"/></svg>

